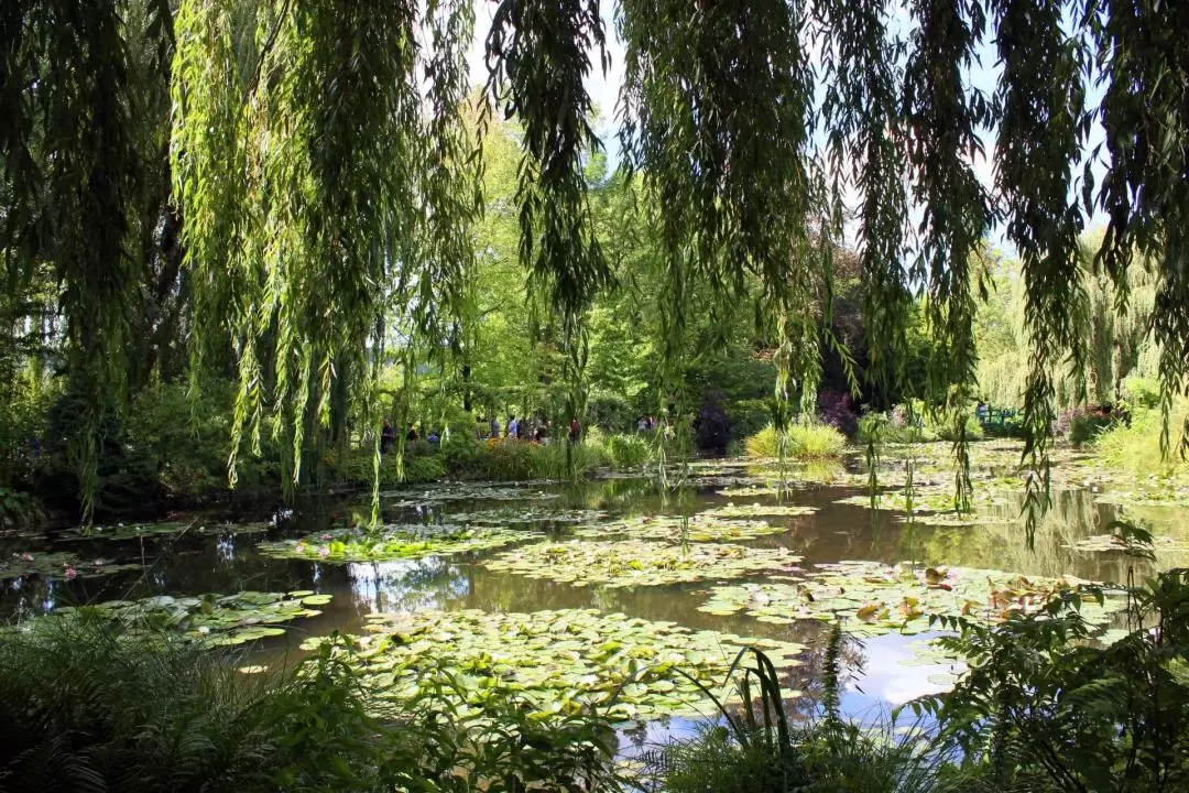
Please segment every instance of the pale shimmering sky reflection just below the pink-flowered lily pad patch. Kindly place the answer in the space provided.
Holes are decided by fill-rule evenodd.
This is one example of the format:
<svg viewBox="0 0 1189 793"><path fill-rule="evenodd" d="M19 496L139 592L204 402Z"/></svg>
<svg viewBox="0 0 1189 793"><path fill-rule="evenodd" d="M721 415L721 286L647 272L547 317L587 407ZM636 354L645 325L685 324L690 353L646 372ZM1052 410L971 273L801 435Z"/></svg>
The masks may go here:
<svg viewBox="0 0 1189 793"><path fill-rule="evenodd" d="M372 613L445 609L471 592L461 568L442 556L351 564L347 578L356 603Z"/></svg>

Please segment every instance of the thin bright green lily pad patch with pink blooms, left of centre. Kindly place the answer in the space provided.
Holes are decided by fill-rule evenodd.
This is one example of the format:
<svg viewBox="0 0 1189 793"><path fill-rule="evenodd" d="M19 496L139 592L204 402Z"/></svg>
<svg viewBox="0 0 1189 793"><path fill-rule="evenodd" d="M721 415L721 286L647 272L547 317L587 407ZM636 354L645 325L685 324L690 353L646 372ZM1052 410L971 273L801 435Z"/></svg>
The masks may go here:
<svg viewBox="0 0 1189 793"><path fill-rule="evenodd" d="M356 528L309 535L301 540L262 542L257 545L257 549L265 556L276 559L327 562L392 561L487 550L539 536L541 535L536 531L493 527L398 523L378 529Z"/></svg>

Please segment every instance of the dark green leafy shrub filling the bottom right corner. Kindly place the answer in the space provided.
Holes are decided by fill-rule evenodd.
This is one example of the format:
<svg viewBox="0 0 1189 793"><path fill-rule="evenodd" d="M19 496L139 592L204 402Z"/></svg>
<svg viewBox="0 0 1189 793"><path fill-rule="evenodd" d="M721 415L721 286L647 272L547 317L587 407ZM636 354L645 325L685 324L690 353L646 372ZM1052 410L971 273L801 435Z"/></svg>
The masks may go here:
<svg viewBox="0 0 1189 793"><path fill-rule="evenodd" d="M1189 789L1189 571L1132 590L1130 632L1106 647L1083 597L999 628L936 621L958 631L942 643L969 673L918 712L993 789Z"/></svg>

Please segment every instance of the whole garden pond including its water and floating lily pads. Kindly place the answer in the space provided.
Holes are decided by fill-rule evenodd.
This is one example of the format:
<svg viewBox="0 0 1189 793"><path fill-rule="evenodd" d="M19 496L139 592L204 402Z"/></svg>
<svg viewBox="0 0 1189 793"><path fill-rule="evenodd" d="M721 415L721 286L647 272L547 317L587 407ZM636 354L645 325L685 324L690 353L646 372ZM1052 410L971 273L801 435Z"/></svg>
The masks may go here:
<svg viewBox="0 0 1189 793"><path fill-rule="evenodd" d="M580 486L410 486L382 497L384 523L402 527L400 542L391 533L376 542L350 531L369 512L359 496L263 521L203 514L89 536L10 536L0 539L0 609L13 621L105 602L117 602L115 611L139 610L127 603L157 598L140 603L189 615L191 630L245 641L245 667L290 662L303 642L333 631L395 634L402 647L421 646L446 663L472 665L479 653L522 673L541 665L533 682L543 686L603 681L606 665L622 655L616 648L631 642L652 646L636 654L646 661L684 653L699 665L717 655L703 669L710 681L742 643L759 640L784 666L800 712L811 711L819 694L830 630L822 617L837 616L856 636L845 647L850 676L842 707L874 718L944 691L961 669L927 648L927 615L950 608L933 596L983 586L982 594L965 594L969 609L987 599L983 579L992 577L984 572L1004 571L1026 577L1011 584L1026 608L1032 596L1019 594L1021 586L1046 591L1042 581L1069 575L1120 581L1128 569L1141 579L1187 559L1182 509L1145 508L1144 520L1163 539L1155 564L1137 561L1105 541L1112 521L1130 514L1090 489L1062 490L1028 550L1019 492L1001 489L986 499L974 524L944 514L910 524L893 509L899 497L889 496L877 512L869 509L857 468L856 460L837 476L769 492L770 471L703 465L681 499L662 496L642 476ZM665 517L682 512L688 522ZM843 560L868 564L820 567ZM905 589L916 584L919 591ZM1007 586L992 583L993 599ZM249 594L209 596L239 592ZM219 634L228 625L239 632ZM566 676L559 663L577 672ZM385 685L398 687L402 678L390 667L378 671L388 674ZM658 717L691 715L646 697L637 705L623 715L640 719L641 739ZM663 729L687 724L677 719Z"/></svg>

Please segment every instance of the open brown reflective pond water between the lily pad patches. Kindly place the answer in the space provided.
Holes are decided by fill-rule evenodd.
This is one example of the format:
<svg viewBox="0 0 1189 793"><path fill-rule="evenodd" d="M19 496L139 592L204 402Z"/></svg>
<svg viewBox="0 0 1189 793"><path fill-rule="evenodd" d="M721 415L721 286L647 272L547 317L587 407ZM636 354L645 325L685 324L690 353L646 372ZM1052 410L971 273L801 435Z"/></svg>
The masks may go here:
<svg viewBox="0 0 1189 793"><path fill-rule="evenodd" d="M697 482L697 480L696 480ZM672 496L662 498L653 482L646 478L596 479L585 485L562 486L530 483L528 485L484 484L482 487L447 486L408 487L385 493L385 523L440 523L459 512L473 514L497 508L540 508L551 510L602 510L609 516L687 514L724 508L729 504L770 504L774 496L724 496L723 482L704 478L702 486L685 497L684 505ZM443 499L452 495L458 498ZM1095 581L1125 580L1128 568L1143 578L1152 571L1149 562L1135 562L1119 553L1075 549L1086 537L1109 533L1118 508L1096 503L1089 490L1056 493L1055 508L1037 533L1034 550L1025 547L1018 523L1007 521L1019 515L1019 502L993 505L983 510L990 521L984 525L908 525L893 510L872 512L854 503L838 503L866 491L848 484L801 484L781 503L814 508L794 516L767 516L780 533L740 540L737 545L754 548L785 548L801 560L800 567L839 560L870 560L887 564L913 562L923 566L955 565L963 567L1011 571L1026 575L1076 575ZM426 498L429 496L429 498ZM492 498L498 496L498 498ZM707 580L672 585L636 587L575 586L570 583L527 578L489 569L482 562L523 543L543 537L526 537L521 546L463 553L451 556L424 556L395 561L333 564L319 560L277 559L257 549L262 540L283 540L320 535L353 523L367 514L369 503L360 497L325 498L302 505L292 515L272 516L257 531L237 533L244 521L262 516L235 512L171 516L175 530L130 539L54 535L0 539L0 559L30 552L70 552L81 560L102 558L109 568L101 575L76 574L67 580L61 571L10 577L4 580L0 613L8 621L26 619L62 606L111 599L134 599L149 596L197 596L208 592L232 593L243 590L289 592L295 590L331 594L321 613L285 625L285 634L259 642L249 650L251 663L278 663L297 657L297 646L307 637L332 631L359 634L369 615L377 612L457 611L478 609L485 612L535 612L560 609L597 609L604 613L623 613L630 618L671 621L694 630L713 630L749 637L797 642L807 646L801 666L787 672L791 688L805 692L795 706L809 711L816 705L822 650L828 627L817 619L799 619L791 624L762 622L743 613L712 615L699 610L707 591L721 583ZM1183 537L1185 518L1182 510L1152 509L1145 515L1155 529ZM874 518L874 520L873 520ZM1002 520L1002 522L998 522ZM227 523L231 522L231 525ZM184 528L184 530L182 530ZM509 524L509 528L542 531L548 539L565 539L573 533L571 524L533 521ZM734 541L732 541L734 542ZM1181 559L1160 559L1159 566L1182 564ZM89 572L95 572L88 567ZM729 583L756 581L768 573L755 573ZM954 666L921 660L918 650L921 635L892 632L869 637L862 643L848 642L844 657L850 676L843 692L843 710L863 718L886 712L910 699L944 690L939 673ZM944 675L943 675L944 676ZM680 729L678 720L667 730ZM640 736L647 736L641 728Z"/></svg>

